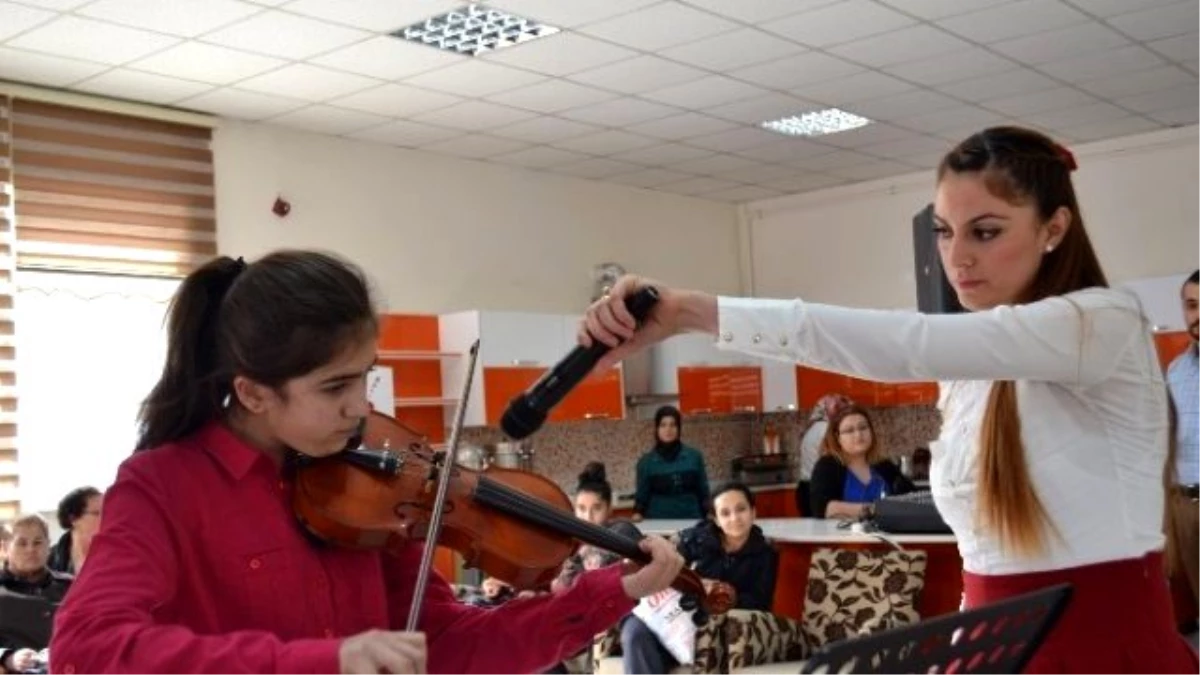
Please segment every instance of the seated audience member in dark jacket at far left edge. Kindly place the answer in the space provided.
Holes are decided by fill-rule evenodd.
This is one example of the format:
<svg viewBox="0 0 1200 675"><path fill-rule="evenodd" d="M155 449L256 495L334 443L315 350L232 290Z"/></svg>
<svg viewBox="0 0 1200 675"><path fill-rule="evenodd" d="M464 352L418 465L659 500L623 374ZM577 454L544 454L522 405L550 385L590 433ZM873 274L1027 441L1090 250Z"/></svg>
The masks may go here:
<svg viewBox="0 0 1200 675"><path fill-rule="evenodd" d="M37 671L49 645L54 609L71 577L47 567L50 532L37 515L13 522L8 560L0 571L0 664L7 673Z"/></svg>

